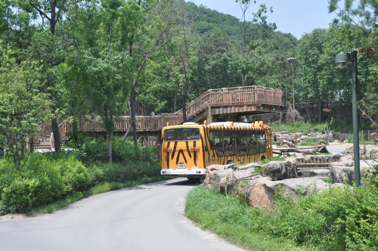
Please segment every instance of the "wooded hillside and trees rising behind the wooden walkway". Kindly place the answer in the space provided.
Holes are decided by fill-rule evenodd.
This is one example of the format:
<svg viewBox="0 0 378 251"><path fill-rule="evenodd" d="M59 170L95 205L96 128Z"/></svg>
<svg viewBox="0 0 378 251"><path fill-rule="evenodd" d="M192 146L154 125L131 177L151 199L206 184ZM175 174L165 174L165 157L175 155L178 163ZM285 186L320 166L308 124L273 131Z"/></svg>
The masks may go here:
<svg viewBox="0 0 378 251"><path fill-rule="evenodd" d="M337 53L353 49L364 101L360 119L376 121L375 12L363 13L375 1L348 12L360 24L341 10L344 22L299 41L275 31L265 16L270 7L239 2L249 3L240 20L182 0L2 1L2 132L34 135L49 118L58 144L59 121L91 114L101 117L111 145L113 117L135 121L174 112L208 89L242 85L281 89L284 104L292 106L292 82L302 119L348 122L350 69L334 62ZM331 10L339 11L338 2L331 1ZM3 134L2 141L20 139L12 137Z"/></svg>

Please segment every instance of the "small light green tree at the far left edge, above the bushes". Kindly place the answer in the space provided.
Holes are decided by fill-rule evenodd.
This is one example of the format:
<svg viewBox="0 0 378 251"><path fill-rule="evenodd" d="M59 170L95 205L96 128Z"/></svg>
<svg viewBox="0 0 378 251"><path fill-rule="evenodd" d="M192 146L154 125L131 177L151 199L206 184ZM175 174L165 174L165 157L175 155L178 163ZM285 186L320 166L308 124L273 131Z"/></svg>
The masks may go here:
<svg viewBox="0 0 378 251"><path fill-rule="evenodd" d="M29 157L28 139L37 136L38 126L51 116L48 94L40 91L40 72L34 62L17 65L8 55L1 57L0 144L16 170Z"/></svg>

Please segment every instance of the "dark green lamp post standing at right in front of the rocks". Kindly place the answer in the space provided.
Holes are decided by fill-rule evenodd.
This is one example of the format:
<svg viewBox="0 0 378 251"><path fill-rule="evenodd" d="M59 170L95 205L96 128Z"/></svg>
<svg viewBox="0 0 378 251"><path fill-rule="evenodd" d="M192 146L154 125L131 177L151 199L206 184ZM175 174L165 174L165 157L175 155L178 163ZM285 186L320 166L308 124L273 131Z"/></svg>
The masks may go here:
<svg viewBox="0 0 378 251"><path fill-rule="evenodd" d="M353 120L353 154L354 154L354 181L356 186L360 185L360 152L358 139L357 120L357 51L342 51L336 55L336 64L344 67L348 62L352 62L352 120Z"/></svg>

